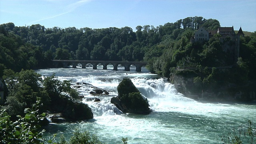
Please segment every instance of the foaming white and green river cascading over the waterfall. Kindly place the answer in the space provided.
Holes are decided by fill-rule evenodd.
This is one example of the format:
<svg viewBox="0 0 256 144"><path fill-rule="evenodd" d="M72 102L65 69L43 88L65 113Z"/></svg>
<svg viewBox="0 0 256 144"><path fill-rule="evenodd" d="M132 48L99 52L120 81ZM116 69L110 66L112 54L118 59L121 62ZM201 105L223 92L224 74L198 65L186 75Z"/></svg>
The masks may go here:
<svg viewBox="0 0 256 144"><path fill-rule="evenodd" d="M122 144L121 138L127 137L128 144L216 144L217 138L232 128L246 125L248 120L256 122L256 105L200 103L178 93L173 84L142 67L136 72L131 66L126 72L122 66L118 70L92 68L50 68L36 70L42 76L53 73L59 80L72 80L72 84L89 83L108 90L108 96L92 96L90 87L76 88L84 96L82 102L88 104L94 118L78 123L50 124L46 136L55 133L67 138L75 129L88 130L98 136L105 144ZM148 98L149 115L121 114L110 103L117 96L117 86L128 77L142 95ZM90 99L100 98L100 102Z"/></svg>

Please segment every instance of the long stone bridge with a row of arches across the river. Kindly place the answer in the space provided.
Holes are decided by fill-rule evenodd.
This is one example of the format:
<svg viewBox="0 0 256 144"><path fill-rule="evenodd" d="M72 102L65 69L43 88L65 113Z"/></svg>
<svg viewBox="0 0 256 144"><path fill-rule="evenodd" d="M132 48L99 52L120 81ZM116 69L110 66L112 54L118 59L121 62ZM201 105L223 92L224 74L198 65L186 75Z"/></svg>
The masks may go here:
<svg viewBox="0 0 256 144"><path fill-rule="evenodd" d="M92 64L93 69L97 69L98 64L102 64L103 70L107 70L108 64L114 66L114 70L117 70L119 64L124 66L124 70L130 71L130 66L135 65L136 71L140 72L142 66L146 66L147 62L126 62L126 61L98 61L98 60L52 60L55 68L67 67L72 65L72 68L76 68L78 64L82 65L82 68L86 68L87 64Z"/></svg>

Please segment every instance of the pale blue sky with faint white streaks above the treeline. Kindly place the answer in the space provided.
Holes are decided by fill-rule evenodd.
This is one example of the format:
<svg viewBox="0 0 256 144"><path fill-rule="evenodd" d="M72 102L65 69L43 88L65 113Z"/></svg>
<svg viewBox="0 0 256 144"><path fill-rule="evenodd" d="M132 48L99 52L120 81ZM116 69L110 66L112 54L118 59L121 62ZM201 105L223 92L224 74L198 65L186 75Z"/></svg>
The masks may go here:
<svg viewBox="0 0 256 144"><path fill-rule="evenodd" d="M187 17L256 31L256 0L0 0L0 24L45 28L160 26Z"/></svg>

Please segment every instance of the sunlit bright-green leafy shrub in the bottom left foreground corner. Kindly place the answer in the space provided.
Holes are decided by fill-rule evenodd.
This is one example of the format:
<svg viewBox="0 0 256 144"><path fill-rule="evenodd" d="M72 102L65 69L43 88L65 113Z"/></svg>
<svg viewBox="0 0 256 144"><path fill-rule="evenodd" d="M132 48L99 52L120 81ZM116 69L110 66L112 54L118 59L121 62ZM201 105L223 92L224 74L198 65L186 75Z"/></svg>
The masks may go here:
<svg viewBox="0 0 256 144"><path fill-rule="evenodd" d="M42 144L43 132L40 122L44 120L45 113L39 112L42 105L40 99L32 108L24 110L25 116L18 116L16 122L10 120L10 116L4 110L0 113L0 142L6 144Z"/></svg>

